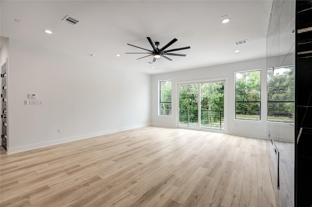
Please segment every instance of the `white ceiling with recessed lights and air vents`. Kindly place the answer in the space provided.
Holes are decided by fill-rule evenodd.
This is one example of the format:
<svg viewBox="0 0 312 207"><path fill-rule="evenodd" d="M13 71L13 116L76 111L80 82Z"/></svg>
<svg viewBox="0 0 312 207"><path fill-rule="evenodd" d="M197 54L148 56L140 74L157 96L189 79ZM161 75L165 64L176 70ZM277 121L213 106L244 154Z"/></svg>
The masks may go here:
<svg viewBox="0 0 312 207"><path fill-rule="evenodd" d="M148 74L265 57L272 7L271 0L1 0L0 3L2 37L88 59L103 67ZM67 15L80 20L78 25L63 22ZM225 15L231 21L222 24L221 16ZM45 34L43 29L53 34ZM125 54L145 52L127 43L151 50L147 36L159 41L159 48L177 38L168 50L185 46L191 49L176 51L187 54L186 57L168 55L173 61L159 58L151 65L146 62L152 61L152 56L137 60L145 54ZM248 44L234 45L243 39ZM239 54L235 50L240 50Z"/></svg>

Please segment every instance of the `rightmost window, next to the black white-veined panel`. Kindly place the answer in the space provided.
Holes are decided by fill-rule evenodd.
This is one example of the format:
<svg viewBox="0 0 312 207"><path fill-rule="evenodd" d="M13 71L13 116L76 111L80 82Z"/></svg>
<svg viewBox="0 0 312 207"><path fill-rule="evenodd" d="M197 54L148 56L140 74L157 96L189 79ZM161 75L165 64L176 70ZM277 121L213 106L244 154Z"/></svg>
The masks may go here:
<svg viewBox="0 0 312 207"><path fill-rule="evenodd" d="M294 122L294 67L268 69L268 121Z"/></svg>

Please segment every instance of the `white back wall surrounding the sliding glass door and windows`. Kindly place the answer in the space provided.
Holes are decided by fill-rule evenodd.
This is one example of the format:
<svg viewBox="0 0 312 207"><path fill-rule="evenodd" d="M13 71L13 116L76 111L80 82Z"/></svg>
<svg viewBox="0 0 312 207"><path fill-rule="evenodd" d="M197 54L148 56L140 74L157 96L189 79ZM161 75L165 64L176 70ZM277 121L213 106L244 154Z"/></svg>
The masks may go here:
<svg viewBox="0 0 312 207"><path fill-rule="evenodd" d="M234 73L239 71L261 69L261 121L243 121L234 119ZM212 66L199 69L189 69L171 73L163 73L151 76L151 122L153 125L174 127L178 126L178 100L177 83L226 79L225 83L225 133L232 135L248 136L255 138L268 138L267 133L267 94L266 94L266 58L236 62L231 64ZM158 116L158 81L172 80L172 116ZM279 123L273 126L274 130L282 126L288 132L293 131L289 124ZM279 140L293 140L294 133L280 134L275 137Z"/></svg>

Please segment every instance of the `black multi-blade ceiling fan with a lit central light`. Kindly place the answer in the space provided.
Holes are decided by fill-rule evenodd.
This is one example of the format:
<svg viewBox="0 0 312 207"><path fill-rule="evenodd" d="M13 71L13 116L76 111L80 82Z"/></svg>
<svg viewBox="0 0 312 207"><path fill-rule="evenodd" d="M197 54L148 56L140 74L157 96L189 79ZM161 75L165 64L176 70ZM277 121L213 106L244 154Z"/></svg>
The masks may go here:
<svg viewBox="0 0 312 207"><path fill-rule="evenodd" d="M153 55L154 56L153 62L155 62L156 59L160 58L160 57L163 57L163 58L165 58L165 59L167 59L169 61L172 61L172 59L170 59L169 57L167 57L165 55L186 56L186 54L176 54L176 53L170 53L170 52L180 51L180 50L185 50L185 49L190 49L191 48L190 46L188 46L188 47L183 47L183 48L176 48L176 49L166 50L169 46L171 46L172 44L174 44L177 41L176 38L174 38L173 40L168 42L168 44L163 46L162 48L158 48L159 42L155 42L155 45L156 45L156 47L155 47L151 37L146 37L146 38L150 42L153 50L147 50L147 49L144 49L144 48L137 47L135 45L127 44L127 45L130 45L130 46L139 48L139 49L143 49L143 50L148 51L148 52L126 52L126 54L149 54L149 55L146 55L144 57L148 57L148 56ZM144 57L137 58L137 60L141 59L141 58L144 58Z"/></svg>

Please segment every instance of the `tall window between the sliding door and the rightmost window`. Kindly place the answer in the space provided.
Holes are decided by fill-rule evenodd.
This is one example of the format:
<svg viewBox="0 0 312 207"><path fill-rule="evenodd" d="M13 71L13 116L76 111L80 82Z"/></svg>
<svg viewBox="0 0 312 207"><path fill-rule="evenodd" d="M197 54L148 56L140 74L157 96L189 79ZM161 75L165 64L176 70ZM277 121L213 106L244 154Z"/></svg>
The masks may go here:
<svg viewBox="0 0 312 207"><path fill-rule="evenodd" d="M235 73L235 119L260 120L260 70Z"/></svg>

